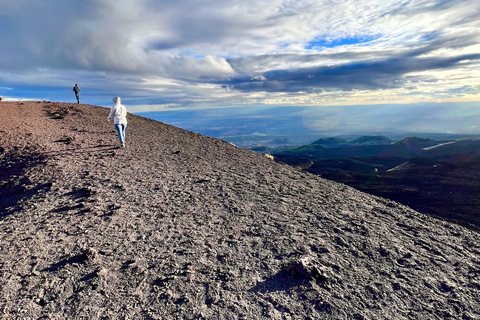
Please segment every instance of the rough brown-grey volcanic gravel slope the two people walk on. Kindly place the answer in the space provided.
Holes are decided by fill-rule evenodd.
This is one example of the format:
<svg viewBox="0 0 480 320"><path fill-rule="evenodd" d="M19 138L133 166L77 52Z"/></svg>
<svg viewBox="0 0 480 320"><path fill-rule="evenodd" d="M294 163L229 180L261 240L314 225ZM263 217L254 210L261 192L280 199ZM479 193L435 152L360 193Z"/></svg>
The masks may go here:
<svg viewBox="0 0 480 320"><path fill-rule="evenodd" d="M0 103L2 319L480 317L476 231L107 114Z"/></svg>

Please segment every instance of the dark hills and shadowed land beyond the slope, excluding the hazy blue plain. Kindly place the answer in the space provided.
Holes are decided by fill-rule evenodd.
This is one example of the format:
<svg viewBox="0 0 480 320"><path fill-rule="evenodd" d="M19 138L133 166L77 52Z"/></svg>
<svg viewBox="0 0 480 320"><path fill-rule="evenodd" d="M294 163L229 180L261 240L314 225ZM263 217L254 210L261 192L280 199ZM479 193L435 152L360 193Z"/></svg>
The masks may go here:
<svg viewBox="0 0 480 320"><path fill-rule="evenodd" d="M297 147L251 149L419 212L480 226L479 137L338 136Z"/></svg>

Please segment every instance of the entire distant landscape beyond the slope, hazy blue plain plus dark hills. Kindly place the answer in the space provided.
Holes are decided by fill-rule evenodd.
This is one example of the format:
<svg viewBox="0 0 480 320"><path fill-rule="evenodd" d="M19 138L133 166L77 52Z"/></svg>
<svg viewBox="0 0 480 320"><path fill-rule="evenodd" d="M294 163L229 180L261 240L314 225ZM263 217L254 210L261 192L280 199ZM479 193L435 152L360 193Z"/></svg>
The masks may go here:
<svg viewBox="0 0 480 320"><path fill-rule="evenodd" d="M378 118L380 109L376 108L335 107L329 110L341 117L331 128L309 125L315 119L329 119L318 108L183 110L142 115L272 154L277 161L324 178L479 228L480 135L478 109L473 106L455 119L448 118L450 109L442 111L437 104L403 108L383 105L382 113L389 114L389 119ZM446 118L448 122L442 120ZM352 123L357 125L352 127Z"/></svg>

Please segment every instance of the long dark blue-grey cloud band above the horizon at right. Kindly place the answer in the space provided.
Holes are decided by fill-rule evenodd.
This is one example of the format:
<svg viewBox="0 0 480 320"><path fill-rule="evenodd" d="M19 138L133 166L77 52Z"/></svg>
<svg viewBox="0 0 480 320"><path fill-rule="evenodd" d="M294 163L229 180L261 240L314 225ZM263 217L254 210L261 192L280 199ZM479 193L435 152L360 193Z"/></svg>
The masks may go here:
<svg viewBox="0 0 480 320"><path fill-rule="evenodd" d="M421 53L424 53L423 50ZM266 81L242 76L224 82L223 85L240 91L267 92L308 92L316 88L347 91L389 89L411 86L411 83L416 81L436 81L433 77L407 78L408 73L454 68L460 62L464 65L473 64L480 59L480 54L445 58L418 58L412 55L411 52L407 52L400 57L379 61L352 62L332 67L272 70L263 73Z"/></svg>

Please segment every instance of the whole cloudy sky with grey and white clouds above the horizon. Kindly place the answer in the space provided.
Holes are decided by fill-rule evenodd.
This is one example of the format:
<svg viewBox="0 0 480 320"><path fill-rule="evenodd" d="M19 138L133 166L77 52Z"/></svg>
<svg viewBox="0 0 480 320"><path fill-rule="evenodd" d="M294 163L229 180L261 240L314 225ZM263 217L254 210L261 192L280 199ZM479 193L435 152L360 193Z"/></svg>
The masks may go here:
<svg viewBox="0 0 480 320"><path fill-rule="evenodd" d="M131 111L479 101L478 0L0 0L7 100Z"/></svg>

